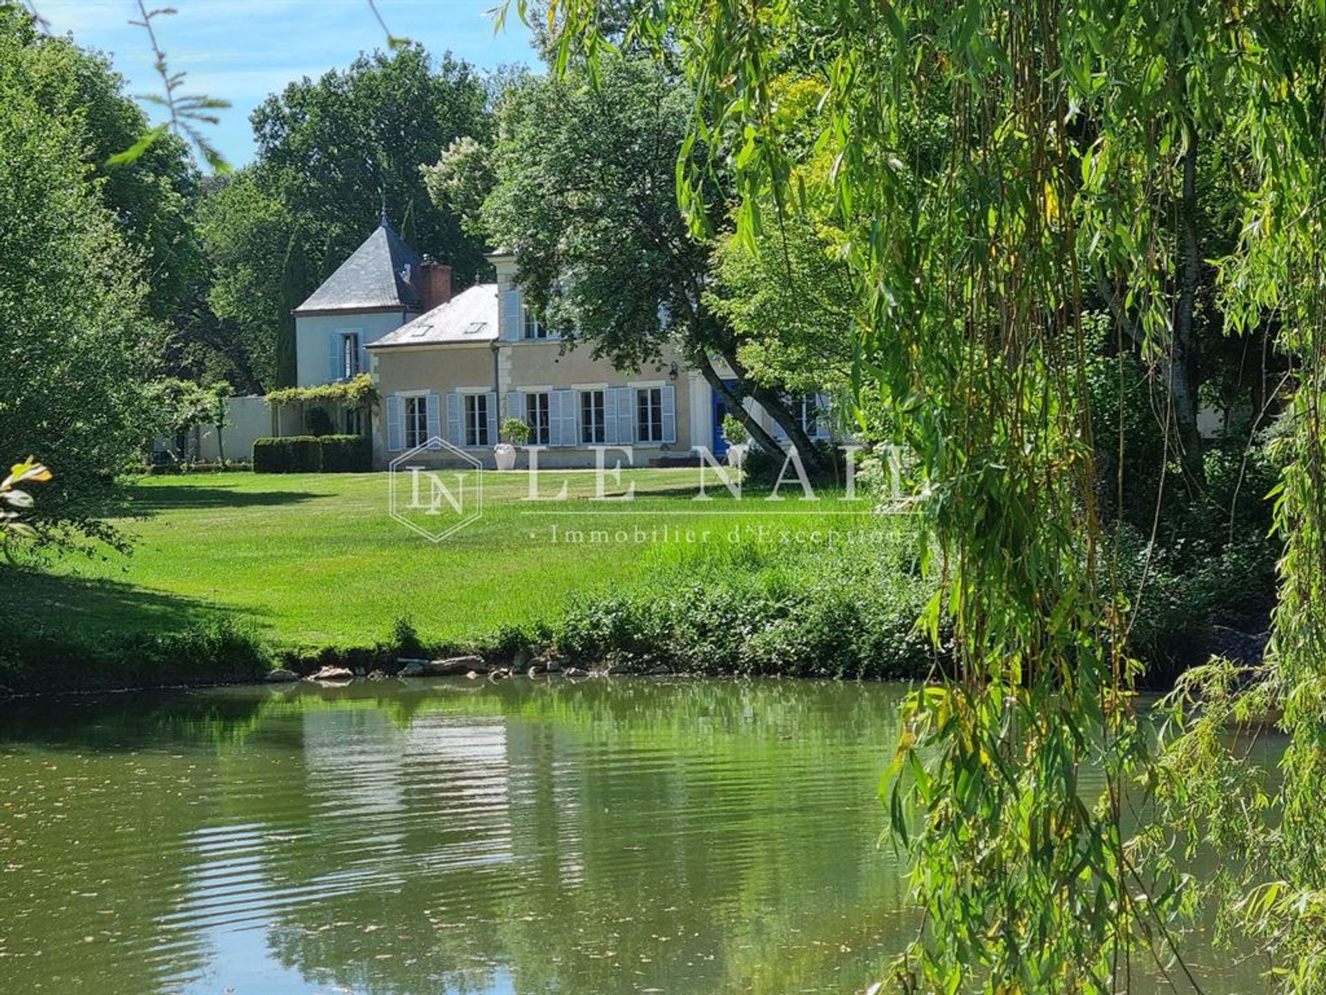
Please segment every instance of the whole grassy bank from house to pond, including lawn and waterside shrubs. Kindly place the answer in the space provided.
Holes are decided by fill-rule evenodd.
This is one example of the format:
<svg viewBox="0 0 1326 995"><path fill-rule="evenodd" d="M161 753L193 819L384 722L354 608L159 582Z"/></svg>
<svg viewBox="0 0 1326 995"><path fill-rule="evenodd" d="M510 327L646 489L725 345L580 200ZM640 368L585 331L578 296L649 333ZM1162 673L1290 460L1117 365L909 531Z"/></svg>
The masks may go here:
<svg viewBox="0 0 1326 995"><path fill-rule="evenodd" d="M387 513L383 474L149 478L130 557L0 570L19 690L237 679L278 658L552 649L708 673L903 675L927 654L906 527L862 503L696 501L697 471L485 476L483 516L432 544ZM613 496L613 488L609 490ZM754 498L752 500L752 496ZM408 647L407 647L408 649Z"/></svg>

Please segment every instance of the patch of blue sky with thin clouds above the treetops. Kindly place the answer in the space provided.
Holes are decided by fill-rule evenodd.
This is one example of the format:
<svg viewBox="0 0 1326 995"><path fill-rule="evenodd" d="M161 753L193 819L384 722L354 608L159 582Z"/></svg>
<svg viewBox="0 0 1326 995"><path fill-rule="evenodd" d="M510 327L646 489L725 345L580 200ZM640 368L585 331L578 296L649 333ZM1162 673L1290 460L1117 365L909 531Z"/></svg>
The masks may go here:
<svg viewBox="0 0 1326 995"><path fill-rule="evenodd" d="M138 19L135 0L34 1L52 32L72 32L80 45L109 53L129 81L129 93L160 90L147 37L129 24ZM394 34L419 41L435 54L450 49L480 69L536 65L529 31L514 11L493 33L488 11L496 3L378 0L378 11ZM171 69L188 73L184 89L233 105L208 134L235 166L253 158L248 115L264 97L293 80L345 66L361 50L386 45L367 0L149 1L149 8L166 5L179 13L152 24ZM155 109L149 107L149 114L155 117Z"/></svg>

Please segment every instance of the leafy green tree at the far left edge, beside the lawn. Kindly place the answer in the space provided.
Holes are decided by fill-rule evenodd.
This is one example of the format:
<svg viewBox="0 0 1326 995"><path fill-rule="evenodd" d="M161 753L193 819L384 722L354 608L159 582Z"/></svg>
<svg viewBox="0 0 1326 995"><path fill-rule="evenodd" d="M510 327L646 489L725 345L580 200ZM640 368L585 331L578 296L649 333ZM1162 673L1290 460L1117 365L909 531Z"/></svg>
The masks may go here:
<svg viewBox="0 0 1326 995"><path fill-rule="evenodd" d="M54 474L29 519L42 537L111 537L99 516L150 434L143 385L162 334L81 117L40 98L34 45L0 8L0 448L40 451Z"/></svg>

